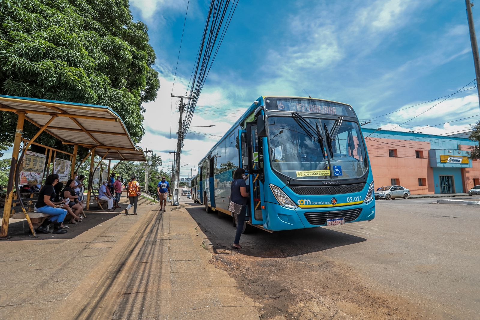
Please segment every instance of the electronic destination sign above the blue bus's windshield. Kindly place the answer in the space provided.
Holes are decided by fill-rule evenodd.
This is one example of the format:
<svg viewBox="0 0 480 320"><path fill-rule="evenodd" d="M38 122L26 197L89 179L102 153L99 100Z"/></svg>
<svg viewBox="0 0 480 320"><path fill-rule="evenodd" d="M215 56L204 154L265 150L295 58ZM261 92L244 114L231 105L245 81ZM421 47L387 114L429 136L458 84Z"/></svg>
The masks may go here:
<svg viewBox="0 0 480 320"><path fill-rule="evenodd" d="M299 98L265 98L268 110L323 113L337 116L355 117L349 106L330 101L299 99Z"/></svg>

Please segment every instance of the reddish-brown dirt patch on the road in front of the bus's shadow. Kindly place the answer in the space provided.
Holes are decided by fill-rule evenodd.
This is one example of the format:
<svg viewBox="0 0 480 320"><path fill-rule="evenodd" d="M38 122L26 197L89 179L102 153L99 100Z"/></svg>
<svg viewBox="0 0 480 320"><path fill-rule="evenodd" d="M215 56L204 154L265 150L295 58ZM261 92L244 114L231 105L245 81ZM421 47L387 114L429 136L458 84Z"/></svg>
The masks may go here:
<svg viewBox="0 0 480 320"><path fill-rule="evenodd" d="M450 319L420 301L372 289L348 266L327 258L302 261L283 258L272 249L269 258L216 249L212 263L234 277L243 292L263 305L262 319L409 320ZM272 259L274 258L274 259Z"/></svg>

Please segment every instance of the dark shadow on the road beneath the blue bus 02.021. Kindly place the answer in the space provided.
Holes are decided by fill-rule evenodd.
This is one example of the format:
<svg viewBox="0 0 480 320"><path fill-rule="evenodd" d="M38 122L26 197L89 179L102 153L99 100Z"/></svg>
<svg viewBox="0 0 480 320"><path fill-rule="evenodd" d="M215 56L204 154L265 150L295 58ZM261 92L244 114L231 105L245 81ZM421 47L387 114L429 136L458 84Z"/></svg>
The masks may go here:
<svg viewBox="0 0 480 320"><path fill-rule="evenodd" d="M217 213L205 213L203 205L194 203L191 205L192 207L186 210L213 244L214 252L223 254L225 253L223 250L226 249L233 251L232 243L236 228L233 227L232 218L224 215L223 219L218 219ZM251 233L242 234L240 237L242 249L235 251L259 258L295 257L366 241L365 238L324 227L274 233L254 227L252 229Z"/></svg>

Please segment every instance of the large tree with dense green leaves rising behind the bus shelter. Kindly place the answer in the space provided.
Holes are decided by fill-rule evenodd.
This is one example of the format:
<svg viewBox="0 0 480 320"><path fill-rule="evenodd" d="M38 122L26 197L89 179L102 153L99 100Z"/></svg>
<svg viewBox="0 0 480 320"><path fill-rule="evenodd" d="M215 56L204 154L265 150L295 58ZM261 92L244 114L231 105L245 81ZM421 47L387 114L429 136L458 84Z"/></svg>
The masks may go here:
<svg viewBox="0 0 480 320"><path fill-rule="evenodd" d="M128 0L1 0L0 22L0 94L111 107L140 142L142 103L160 84L147 26L132 21ZM0 151L16 118L0 112ZM36 131L25 121L25 137ZM38 139L59 147L47 133Z"/></svg>

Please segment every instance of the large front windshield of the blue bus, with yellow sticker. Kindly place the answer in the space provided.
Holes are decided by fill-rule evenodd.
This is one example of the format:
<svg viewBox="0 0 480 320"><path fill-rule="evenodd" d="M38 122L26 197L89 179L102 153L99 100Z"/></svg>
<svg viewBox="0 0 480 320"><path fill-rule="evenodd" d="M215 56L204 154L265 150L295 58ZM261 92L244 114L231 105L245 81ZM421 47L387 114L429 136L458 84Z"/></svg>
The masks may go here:
<svg viewBox="0 0 480 320"><path fill-rule="evenodd" d="M367 172L366 151L358 123L310 115L304 119L312 128L318 128L316 131L322 137L305 130L307 126L300 126L294 117L268 117L270 161L277 173L308 180L360 178Z"/></svg>

